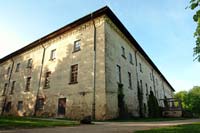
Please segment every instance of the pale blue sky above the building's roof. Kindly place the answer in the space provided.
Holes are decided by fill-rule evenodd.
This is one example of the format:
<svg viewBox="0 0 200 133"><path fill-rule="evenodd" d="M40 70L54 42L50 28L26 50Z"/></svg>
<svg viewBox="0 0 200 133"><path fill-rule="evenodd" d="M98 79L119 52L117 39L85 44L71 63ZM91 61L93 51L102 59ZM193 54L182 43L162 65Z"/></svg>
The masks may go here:
<svg viewBox="0 0 200 133"><path fill-rule="evenodd" d="M193 61L195 23L189 0L1 0L0 58L108 5L171 85L200 85L200 63Z"/></svg>

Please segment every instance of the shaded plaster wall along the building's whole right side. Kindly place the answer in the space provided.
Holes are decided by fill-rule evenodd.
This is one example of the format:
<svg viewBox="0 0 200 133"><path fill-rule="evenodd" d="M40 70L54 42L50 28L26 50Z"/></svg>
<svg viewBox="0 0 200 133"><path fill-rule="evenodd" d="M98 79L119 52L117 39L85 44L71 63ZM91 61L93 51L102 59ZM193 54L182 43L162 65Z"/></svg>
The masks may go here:
<svg viewBox="0 0 200 133"><path fill-rule="evenodd" d="M113 22L106 18L105 23L106 38L106 100L108 118L118 116L118 84L117 68L121 66L121 79L123 84L123 93L125 95L125 106L133 116L139 116L138 86L142 95L142 113L148 116L148 97L150 91L156 96L159 105L163 103L159 99L172 97L171 88L165 83L160 75L138 52L138 50L129 42L129 40L119 31ZM121 47L125 48L125 57L122 57ZM133 56L133 64L129 62L129 53ZM128 87L128 72L132 75L132 89ZM164 93L165 91L165 93Z"/></svg>

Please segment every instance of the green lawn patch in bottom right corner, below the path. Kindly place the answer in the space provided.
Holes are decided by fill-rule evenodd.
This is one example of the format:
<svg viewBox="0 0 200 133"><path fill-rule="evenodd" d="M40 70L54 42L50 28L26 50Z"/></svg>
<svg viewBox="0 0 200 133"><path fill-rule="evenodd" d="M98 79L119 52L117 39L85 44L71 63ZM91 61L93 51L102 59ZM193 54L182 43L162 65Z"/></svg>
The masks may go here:
<svg viewBox="0 0 200 133"><path fill-rule="evenodd" d="M156 128L151 130L136 131L136 133L199 133L200 122L187 125L178 125L165 128Z"/></svg>

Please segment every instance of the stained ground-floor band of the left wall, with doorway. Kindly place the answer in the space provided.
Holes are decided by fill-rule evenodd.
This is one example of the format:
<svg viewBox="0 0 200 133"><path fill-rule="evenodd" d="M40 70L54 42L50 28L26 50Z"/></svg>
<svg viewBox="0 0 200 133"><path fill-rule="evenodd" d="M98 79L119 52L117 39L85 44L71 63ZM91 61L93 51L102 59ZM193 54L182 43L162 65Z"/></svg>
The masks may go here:
<svg viewBox="0 0 200 133"><path fill-rule="evenodd" d="M105 103L103 100L105 94L96 96L96 119L106 119ZM70 119L83 119L86 116L92 116L93 104L92 92L80 92L70 95L54 95L44 93L39 95L36 105L36 96L27 95L26 97L13 98L12 96L1 97L1 108L6 98L6 104L3 115L14 116L33 116L35 107L36 116L41 117L66 117Z"/></svg>

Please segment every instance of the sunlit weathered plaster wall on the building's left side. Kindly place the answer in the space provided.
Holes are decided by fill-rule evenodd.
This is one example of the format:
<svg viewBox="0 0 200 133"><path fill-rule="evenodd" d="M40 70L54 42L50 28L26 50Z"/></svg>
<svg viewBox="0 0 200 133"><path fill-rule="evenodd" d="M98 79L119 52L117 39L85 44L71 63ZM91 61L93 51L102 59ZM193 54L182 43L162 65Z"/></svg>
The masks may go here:
<svg viewBox="0 0 200 133"><path fill-rule="evenodd" d="M105 119L105 41L104 41L104 19L96 18L96 42L97 42L97 76L96 76L96 118ZM81 50L73 52L74 41L81 40ZM33 115L35 98L39 89L39 97L45 98L44 109L38 115L45 114L56 116L58 110L58 99L66 98L66 117L80 119L91 115L93 103L93 55L94 55L94 25L93 22L84 23L62 35L57 36L43 44L45 47L44 66L42 70L41 85L39 75L43 55L42 46L28 50L14 57L14 69L12 81L16 81L14 94L7 93L7 101L12 102L10 114L16 115L18 101L23 101L23 113ZM56 59L50 60L51 50L56 49ZM27 60L33 59L33 68L28 69ZM19 72L15 72L17 63L20 63ZM71 65L78 64L78 83L69 84ZM8 81L8 66L11 61L0 64L1 82L0 90L3 92L4 84ZM45 74L51 71L50 88L44 89ZM31 89L25 92L26 78L31 76ZM1 93L2 94L2 93ZM4 99L5 96L1 96ZM1 106L2 107L2 106Z"/></svg>

